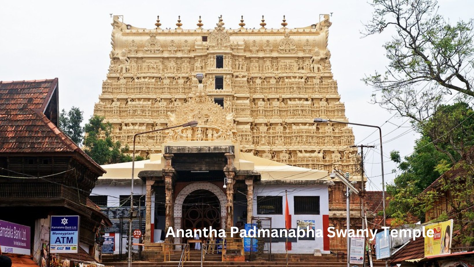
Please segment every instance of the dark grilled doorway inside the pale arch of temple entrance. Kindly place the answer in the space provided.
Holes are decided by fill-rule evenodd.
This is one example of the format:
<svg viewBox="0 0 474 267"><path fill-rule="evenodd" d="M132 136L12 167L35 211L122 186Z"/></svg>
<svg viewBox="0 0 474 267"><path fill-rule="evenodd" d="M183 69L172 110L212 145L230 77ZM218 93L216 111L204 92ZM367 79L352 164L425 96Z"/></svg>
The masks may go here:
<svg viewBox="0 0 474 267"><path fill-rule="evenodd" d="M209 190L199 189L186 196L182 203L182 228L220 227L219 198Z"/></svg>

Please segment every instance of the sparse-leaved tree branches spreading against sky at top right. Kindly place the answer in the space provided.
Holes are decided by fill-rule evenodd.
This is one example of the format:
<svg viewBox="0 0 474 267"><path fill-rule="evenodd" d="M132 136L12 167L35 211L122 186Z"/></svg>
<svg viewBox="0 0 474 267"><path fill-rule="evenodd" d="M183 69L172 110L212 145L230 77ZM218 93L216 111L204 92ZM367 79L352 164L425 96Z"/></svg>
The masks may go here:
<svg viewBox="0 0 474 267"><path fill-rule="evenodd" d="M365 36L388 28L396 33L383 46L386 70L363 79L375 90L373 103L422 122L451 90L474 97L472 19L446 21L436 0L373 0L371 5Z"/></svg>

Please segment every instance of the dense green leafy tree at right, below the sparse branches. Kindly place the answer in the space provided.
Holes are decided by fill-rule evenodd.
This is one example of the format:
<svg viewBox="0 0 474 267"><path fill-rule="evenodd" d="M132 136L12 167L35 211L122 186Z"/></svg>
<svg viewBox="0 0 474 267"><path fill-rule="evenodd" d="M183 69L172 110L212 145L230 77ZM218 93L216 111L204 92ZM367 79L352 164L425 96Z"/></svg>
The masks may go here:
<svg viewBox="0 0 474 267"><path fill-rule="evenodd" d="M408 212L423 221L433 198L421 193L459 161L472 164L474 111L468 104L441 105L417 130L422 137L416 141L413 154L402 160L398 151L391 152L401 174L387 185L392 195L387 214L398 223L404 222ZM454 185L453 190L457 190Z"/></svg>

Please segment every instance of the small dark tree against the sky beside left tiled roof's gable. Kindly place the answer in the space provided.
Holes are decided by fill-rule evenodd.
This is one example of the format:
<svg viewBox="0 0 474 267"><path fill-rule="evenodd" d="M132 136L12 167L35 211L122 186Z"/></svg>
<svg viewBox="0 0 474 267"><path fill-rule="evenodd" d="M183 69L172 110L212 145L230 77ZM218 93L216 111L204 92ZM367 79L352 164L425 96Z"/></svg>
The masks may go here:
<svg viewBox="0 0 474 267"><path fill-rule="evenodd" d="M74 143L81 145L84 129L81 126L83 111L72 107L69 111L61 110L59 114L59 129L71 138Z"/></svg>

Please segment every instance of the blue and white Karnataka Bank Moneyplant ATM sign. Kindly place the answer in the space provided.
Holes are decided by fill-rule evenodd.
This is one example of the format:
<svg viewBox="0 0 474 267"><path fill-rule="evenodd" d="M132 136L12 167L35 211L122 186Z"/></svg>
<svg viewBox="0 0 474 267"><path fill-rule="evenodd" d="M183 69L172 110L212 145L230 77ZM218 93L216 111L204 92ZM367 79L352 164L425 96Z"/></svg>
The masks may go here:
<svg viewBox="0 0 474 267"><path fill-rule="evenodd" d="M51 253L78 253L79 216L51 216L49 246Z"/></svg>

